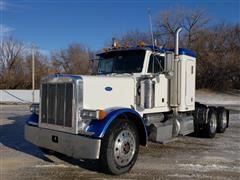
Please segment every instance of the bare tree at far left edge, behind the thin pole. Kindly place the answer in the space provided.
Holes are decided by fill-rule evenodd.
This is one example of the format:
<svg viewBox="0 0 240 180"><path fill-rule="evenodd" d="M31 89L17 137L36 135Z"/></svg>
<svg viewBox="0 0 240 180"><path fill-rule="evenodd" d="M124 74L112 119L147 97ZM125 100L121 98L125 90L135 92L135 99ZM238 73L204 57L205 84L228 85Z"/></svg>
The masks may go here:
<svg viewBox="0 0 240 180"><path fill-rule="evenodd" d="M28 89L32 86L32 54L27 46L12 38L5 38L0 47L0 89ZM39 87L42 76L51 69L46 56L35 54L35 80Z"/></svg>

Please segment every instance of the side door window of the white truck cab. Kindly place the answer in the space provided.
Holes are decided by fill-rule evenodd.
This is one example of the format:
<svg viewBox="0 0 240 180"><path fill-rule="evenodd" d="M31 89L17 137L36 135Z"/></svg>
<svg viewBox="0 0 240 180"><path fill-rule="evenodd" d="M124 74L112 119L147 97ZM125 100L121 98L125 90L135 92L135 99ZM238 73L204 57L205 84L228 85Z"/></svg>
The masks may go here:
<svg viewBox="0 0 240 180"><path fill-rule="evenodd" d="M148 65L148 73L161 73L164 68L164 57L159 55L151 55Z"/></svg>

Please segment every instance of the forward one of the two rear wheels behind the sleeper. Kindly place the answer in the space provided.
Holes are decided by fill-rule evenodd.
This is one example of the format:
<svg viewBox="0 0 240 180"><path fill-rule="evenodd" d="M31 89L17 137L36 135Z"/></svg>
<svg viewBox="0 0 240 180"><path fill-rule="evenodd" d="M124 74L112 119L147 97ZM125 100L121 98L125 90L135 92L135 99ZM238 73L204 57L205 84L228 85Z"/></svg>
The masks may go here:
<svg viewBox="0 0 240 180"><path fill-rule="evenodd" d="M217 116L213 109L209 109L207 118L208 121L205 128L205 135L208 138L214 138L217 131Z"/></svg>

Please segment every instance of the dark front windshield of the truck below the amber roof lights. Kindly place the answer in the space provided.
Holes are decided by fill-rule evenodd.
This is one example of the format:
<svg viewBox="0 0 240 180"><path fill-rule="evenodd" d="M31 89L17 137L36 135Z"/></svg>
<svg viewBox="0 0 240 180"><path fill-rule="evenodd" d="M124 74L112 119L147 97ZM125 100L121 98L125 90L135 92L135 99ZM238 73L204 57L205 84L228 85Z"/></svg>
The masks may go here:
<svg viewBox="0 0 240 180"><path fill-rule="evenodd" d="M140 73L142 72L145 51L115 51L100 55L98 74Z"/></svg>

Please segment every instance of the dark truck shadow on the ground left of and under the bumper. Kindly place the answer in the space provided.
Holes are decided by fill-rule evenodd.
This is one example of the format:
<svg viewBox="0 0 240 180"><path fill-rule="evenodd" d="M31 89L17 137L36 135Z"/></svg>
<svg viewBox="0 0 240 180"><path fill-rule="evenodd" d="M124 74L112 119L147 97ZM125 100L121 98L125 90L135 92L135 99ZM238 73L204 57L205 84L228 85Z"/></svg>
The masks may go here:
<svg viewBox="0 0 240 180"><path fill-rule="evenodd" d="M7 120L9 120L9 122L0 125L0 144L41 160L54 163L54 161L50 159L51 156L45 154L40 148L24 139L24 125L28 118L29 115L8 117ZM53 155L74 166L79 166L91 171L100 171L97 160L78 160L57 152L54 152Z"/></svg>

